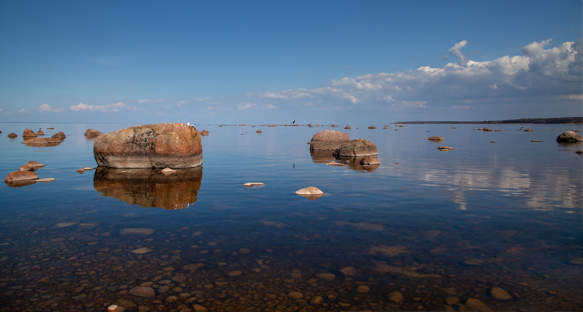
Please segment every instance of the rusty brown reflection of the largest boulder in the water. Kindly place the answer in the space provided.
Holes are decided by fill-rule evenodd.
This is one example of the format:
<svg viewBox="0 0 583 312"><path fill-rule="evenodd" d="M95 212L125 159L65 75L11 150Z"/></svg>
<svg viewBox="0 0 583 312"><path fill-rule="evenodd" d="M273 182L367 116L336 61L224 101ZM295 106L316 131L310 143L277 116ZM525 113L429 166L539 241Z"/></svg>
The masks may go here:
<svg viewBox="0 0 583 312"><path fill-rule="evenodd" d="M93 176L93 187L102 196L130 204L181 209L196 201L201 180L202 166L178 169L171 175L164 175L161 169L154 168L99 166Z"/></svg>

